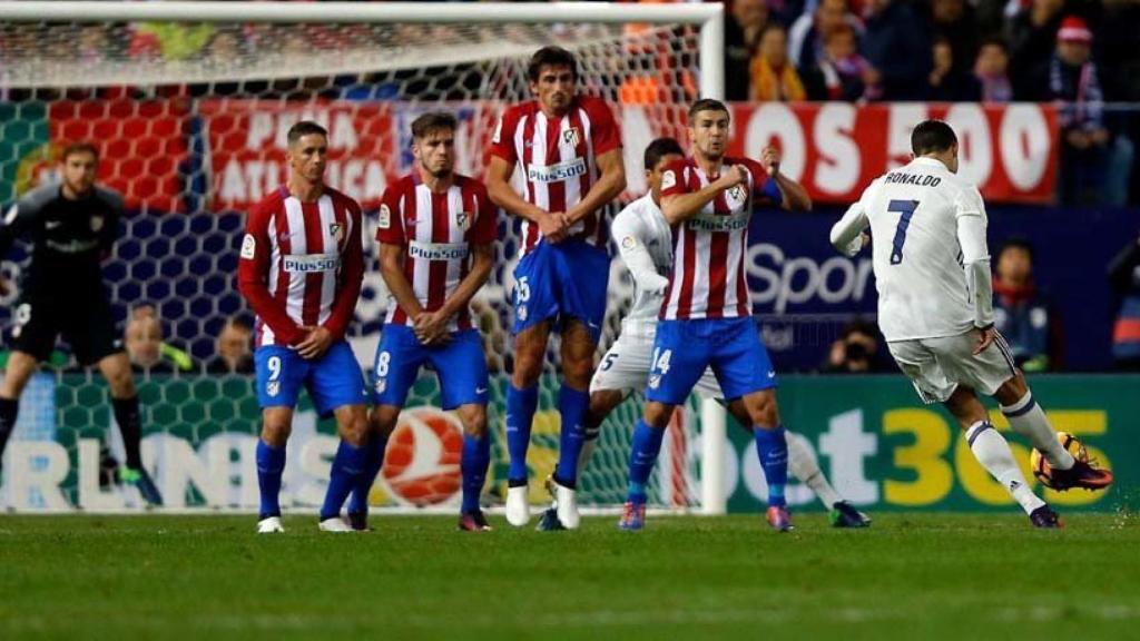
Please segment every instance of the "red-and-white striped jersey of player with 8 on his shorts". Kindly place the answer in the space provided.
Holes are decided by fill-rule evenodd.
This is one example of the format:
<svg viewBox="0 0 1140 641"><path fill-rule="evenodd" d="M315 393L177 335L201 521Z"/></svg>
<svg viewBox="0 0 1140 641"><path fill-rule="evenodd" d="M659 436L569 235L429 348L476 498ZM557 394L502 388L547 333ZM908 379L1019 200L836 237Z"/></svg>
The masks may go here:
<svg viewBox="0 0 1140 641"><path fill-rule="evenodd" d="M451 187L437 194L413 172L388 187L380 205L376 240L404 246L404 276L425 311L442 307L471 268L471 245L498 238L498 208L487 187L474 178L456 176ZM385 323L413 325L394 297L389 297ZM463 309L448 328L472 327Z"/></svg>

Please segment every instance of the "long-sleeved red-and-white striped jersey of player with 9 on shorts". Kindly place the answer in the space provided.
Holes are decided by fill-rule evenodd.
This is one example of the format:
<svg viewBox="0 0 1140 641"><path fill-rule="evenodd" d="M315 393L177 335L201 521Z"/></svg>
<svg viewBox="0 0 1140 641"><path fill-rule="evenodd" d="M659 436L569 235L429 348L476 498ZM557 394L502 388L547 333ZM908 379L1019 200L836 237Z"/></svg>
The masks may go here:
<svg viewBox="0 0 1140 641"><path fill-rule="evenodd" d="M360 205L328 187L312 203L278 188L250 212L237 269L258 347L296 344L303 326L344 338L364 278Z"/></svg>

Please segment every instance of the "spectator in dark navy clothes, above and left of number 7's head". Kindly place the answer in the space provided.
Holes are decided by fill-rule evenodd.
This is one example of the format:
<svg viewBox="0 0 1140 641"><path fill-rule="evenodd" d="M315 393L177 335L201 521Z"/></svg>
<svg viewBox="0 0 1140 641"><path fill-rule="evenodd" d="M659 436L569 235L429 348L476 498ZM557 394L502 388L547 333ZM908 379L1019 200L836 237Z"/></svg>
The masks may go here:
<svg viewBox="0 0 1140 641"><path fill-rule="evenodd" d="M863 49L882 76L881 99L922 99L931 67L927 25L898 0L871 0L868 7Z"/></svg>

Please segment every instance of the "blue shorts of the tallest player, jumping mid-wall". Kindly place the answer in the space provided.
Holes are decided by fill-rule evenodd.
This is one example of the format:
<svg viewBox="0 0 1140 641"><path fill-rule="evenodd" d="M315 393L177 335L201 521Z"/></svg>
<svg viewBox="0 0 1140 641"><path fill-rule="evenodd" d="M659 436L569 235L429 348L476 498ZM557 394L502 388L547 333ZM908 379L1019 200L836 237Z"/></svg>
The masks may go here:
<svg viewBox="0 0 1140 641"><path fill-rule="evenodd" d="M554 319L586 324L596 343L605 319L610 254L584 241L543 241L514 268L514 333Z"/></svg>

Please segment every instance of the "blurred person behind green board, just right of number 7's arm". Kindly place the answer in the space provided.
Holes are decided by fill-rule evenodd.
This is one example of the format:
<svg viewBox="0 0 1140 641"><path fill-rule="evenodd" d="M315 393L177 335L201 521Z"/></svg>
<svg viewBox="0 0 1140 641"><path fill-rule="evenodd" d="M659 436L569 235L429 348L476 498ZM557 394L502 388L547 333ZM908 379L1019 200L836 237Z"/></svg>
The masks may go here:
<svg viewBox="0 0 1140 641"><path fill-rule="evenodd" d="M1059 365L1051 357L1059 344L1048 297L1033 281L1033 245L1010 240L997 252L994 274L994 326L1009 342L1013 360L1026 372Z"/></svg>

